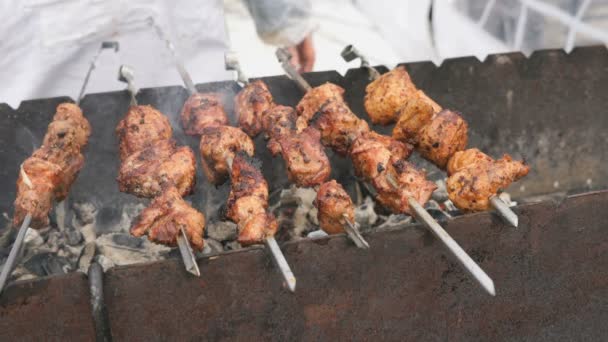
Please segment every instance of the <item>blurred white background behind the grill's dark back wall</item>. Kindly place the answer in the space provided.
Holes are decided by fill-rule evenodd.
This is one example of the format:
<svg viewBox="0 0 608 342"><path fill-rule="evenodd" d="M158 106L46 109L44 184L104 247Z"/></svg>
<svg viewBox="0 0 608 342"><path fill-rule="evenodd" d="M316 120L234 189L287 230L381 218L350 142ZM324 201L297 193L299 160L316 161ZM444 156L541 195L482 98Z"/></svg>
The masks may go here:
<svg viewBox="0 0 608 342"><path fill-rule="evenodd" d="M282 74L274 52L289 47L301 71L357 67L340 58L354 44L372 64L605 44L607 0L4 0L0 2L0 103L76 98L102 41L88 93L124 89L118 67L139 87L180 85L174 60L149 19L172 40L195 83ZM296 61L297 63L297 61Z"/></svg>

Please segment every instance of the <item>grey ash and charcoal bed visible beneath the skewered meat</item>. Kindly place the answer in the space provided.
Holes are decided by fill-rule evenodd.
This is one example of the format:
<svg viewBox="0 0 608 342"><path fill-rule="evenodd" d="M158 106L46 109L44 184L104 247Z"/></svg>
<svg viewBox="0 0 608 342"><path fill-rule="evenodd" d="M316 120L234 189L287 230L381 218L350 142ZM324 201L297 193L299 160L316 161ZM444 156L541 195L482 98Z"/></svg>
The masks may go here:
<svg viewBox="0 0 608 342"><path fill-rule="evenodd" d="M437 181L438 190L433 194L427 210L438 221L447 220L460 212L447 198L445 181ZM327 234L320 230L317 208L314 205L316 191L313 189L283 189L276 203L270 206L279 222L277 239L294 241L319 238ZM357 194L355 221L362 232L398 229L412 225L414 221L406 215L387 213L377 206L369 195ZM508 194L501 194L506 203ZM68 272L87 272L90 264L97 261L104 270L114 266L163 260L179 257L176 248L150 242L146 237L137 238L129 233L133 221L145 208L144 204L127 204L119 213L120 218L110 228L98 224L100 210L92 203L60 203L51 215L51 225L44 229L29 229L22 250L22 258L16 266L11 280L26 280ZM8 215L4 215L10 222ZM0 264L8 258L11 245L17 235L10 224L0 236ZM237 226L228 221L207 222L205 247L197 255L218 254L242 248L236 241ZM373 248L373 247L372 247Z"/></svg>

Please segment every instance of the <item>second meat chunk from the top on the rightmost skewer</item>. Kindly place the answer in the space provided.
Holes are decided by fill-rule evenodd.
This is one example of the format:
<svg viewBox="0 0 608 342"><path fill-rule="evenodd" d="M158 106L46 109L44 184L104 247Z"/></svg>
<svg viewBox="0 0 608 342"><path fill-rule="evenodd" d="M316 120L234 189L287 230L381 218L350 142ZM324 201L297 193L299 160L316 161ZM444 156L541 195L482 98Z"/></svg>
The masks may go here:
<svg viewBox="0 0 608 342"><path fill-rule="evenodd" d="M405 99L405 103L397 113L397 123L393 128L393 138L418 145L419 131L429 124L435 114L433 105L425 97L416 93Z"/></svg>

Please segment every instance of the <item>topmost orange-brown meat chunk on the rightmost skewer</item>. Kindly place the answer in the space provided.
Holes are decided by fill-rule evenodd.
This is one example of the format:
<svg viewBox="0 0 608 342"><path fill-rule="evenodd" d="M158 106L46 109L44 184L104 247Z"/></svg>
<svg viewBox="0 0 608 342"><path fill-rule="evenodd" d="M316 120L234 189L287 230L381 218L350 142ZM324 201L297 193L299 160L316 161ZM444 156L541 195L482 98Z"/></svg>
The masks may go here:
<svg viewBox="0 0 608 342"><path fill-rule="evenodd" d="M397 112L408 98L416 94L416 86L404 67L397 67L365 88L365 110L372 123L386 125L397 119Z"/></svg>

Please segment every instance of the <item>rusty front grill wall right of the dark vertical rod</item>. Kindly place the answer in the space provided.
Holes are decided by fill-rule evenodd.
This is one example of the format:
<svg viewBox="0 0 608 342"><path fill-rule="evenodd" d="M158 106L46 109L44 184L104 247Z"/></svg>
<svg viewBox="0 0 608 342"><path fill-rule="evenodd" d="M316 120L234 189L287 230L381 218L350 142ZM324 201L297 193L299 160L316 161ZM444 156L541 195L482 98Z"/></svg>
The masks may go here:
<svg viewBox="0 0 608 342"><path fill-rule="evenodd" d="M603 340L608 337L608 192L490 213L445 228L493 277L489 297L420 227L284 246L295 294L263 249L111 270L117 340Z"/></svg>

